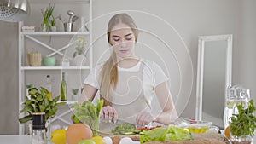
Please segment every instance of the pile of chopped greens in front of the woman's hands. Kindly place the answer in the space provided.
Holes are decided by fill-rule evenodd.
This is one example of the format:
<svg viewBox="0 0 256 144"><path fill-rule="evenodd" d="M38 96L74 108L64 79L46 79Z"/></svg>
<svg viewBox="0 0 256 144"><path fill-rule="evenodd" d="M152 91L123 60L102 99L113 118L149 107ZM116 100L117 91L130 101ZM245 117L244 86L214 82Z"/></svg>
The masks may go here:
<svg viewBox="0 0 256 144"><path fill-rule="evenodd" d="M133 135L135 131L135 125L133 124L119 124L111 130L113 135Z"/></svg>

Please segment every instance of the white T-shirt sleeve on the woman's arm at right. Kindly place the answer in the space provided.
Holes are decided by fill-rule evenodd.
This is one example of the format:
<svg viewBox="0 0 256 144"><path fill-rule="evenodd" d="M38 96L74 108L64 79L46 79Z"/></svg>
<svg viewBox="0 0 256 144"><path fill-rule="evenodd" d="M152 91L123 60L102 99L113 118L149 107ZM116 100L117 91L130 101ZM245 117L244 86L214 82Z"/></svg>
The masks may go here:
<svg viewBox="0 0 256 144"><path fill-rule="evenodd" d="M154 87L169 80L169 78L166 76L166 73L155 62L152 64L152 70L154 75Z"/></svg>

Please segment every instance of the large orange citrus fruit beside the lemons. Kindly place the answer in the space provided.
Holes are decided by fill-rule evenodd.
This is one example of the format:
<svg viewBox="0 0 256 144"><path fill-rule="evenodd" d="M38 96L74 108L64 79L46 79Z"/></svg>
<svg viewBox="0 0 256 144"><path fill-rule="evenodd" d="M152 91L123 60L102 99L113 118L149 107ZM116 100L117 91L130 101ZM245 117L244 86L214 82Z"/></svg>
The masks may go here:
<svg viewBox="0 0 256 144"><path fill-rule="evenodd" d="M78 144L79 141L92 138L92 131L87 124L71 124L67 128L66 138L68 144Z"/></svg>

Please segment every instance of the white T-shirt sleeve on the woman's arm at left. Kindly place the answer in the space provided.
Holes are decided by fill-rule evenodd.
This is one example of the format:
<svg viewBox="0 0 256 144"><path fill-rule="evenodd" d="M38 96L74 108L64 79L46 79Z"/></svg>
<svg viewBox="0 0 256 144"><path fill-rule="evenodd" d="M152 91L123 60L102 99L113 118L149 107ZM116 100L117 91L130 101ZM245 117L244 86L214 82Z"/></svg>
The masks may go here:
<svg viewBox="0 0 256 144"><path fill-rule="evenodd" d="M99 85L99 75L100 75L100 67L101 66L95 66L87 76L87 78L84 79L84 84L89 84L90 86L93 86L96 89L100 89Z"/></svg>

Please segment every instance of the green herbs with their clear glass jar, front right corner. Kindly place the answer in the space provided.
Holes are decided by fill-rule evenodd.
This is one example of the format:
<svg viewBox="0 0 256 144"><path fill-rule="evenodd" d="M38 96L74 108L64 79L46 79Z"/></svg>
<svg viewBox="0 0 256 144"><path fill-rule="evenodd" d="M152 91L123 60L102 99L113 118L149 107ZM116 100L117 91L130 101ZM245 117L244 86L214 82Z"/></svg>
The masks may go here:
<svg viewBox="0 0 256 144"><path fill-rule="evenodd" d="M232 144L250 144L256 127L256 107L253 100L249 101L247 107L243 102L238 103L237 110L238 113L230 118L230 140Z"/></svg>

